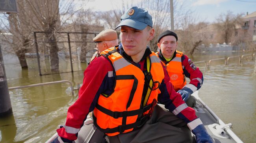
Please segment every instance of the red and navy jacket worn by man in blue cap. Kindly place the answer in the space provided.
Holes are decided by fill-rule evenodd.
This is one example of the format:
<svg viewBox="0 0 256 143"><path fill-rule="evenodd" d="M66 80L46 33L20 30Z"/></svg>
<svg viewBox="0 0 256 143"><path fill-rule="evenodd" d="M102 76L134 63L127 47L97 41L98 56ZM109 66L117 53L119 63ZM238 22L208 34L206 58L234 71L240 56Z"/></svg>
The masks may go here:
<svg viewBox="0 0 256 143"><path fill-rule="evenodd" d="M123 51L122 45L119 45L118 50L126 60L132 62L132 58ZM151 51L148 48L139 63L132 63L142 71L147 70L145 69L145 58L149 54L151 54ZM165 68L163 67L163 69ZM115 78L113 76L108 76L109 74L113 74L113 67L104 56L96 58L87 67L84 72L83 85L79 91L79 98L69 107L65 126L57 130L60 137L69 140L77 139L78 131L83 126L83 122L85 121L88 113L93 111L95 108L100 94L104 93L110 95L113 91ZM191 107L187 107L180 94L174 91L166 70L164 70L164 74L165 77L163 81L161 81L159 87L161 94L158 94L158 101L161 104L164 104L166 109L169 109L170 112L173 112L176 116L187 123L197 119L195 110ZM145 89L147 89L147 85L145 85ZM145 90L145 92L146 91L147 90ZM179 106L182 107L182 109L177 108Z"/></svg>

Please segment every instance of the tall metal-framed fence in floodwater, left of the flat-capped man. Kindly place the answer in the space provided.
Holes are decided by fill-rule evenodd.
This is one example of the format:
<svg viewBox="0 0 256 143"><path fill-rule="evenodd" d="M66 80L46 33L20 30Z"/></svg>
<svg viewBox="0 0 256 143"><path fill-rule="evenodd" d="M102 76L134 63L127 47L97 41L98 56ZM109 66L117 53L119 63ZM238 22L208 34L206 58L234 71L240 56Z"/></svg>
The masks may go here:
<svg viewBox="0 0 256 143"><path fill-rule="evenodd" d="M95 44L92 40L98 33L89 32L55 32L54 34L45 31L34 32L35 52L39 75L81 71L84 68L80 65L80 54L94 53ZM49 36L50 35L50 36ZM48 37L47 37L48 36ZM49 56L51 46L58 50L58 71L51 71L52 64ZM81 52L82 51L82 52ZM32 55L34 56L34 55ZM86 55L82 55L85 56ZM88 58L90 56L87 56ZM54 58L54 57L53 57ZM86 63L86 61L84 61ZM42 71L43 70L43 71Z"/></svg>

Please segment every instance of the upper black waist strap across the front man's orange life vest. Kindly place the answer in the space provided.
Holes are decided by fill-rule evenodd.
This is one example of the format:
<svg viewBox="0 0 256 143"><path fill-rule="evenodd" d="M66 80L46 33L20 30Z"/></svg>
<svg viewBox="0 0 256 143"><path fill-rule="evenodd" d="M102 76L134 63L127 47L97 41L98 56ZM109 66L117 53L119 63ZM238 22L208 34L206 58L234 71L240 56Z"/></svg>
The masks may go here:
<svg viewBox="0 0 256 143"><path fill-rule="evenodd" d="M117 118L120 118L120 117L127 117L127 116L136 116L136 115L139 115L139 114L143 114L144 112L146 112L147 110L150 110L152 107L152 104L149 104L141 109L137 109L137 110L131 110L131 111L123 111L123 112L117 112L117 111L111 111L111 110L108 110L98 104L96 104L96 108L98 110L100 110L101 112L117 119Z"/></svg>

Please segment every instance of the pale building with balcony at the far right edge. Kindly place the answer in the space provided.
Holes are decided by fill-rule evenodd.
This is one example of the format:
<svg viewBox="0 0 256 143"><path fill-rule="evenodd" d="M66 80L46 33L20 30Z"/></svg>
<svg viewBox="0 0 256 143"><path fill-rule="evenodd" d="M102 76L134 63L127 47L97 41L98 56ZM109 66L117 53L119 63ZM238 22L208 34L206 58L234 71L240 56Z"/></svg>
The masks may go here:
<svg viewBox="0 0 256 143"><path fill-rule="evenodd" d="M256 41L256 11L243 17L244 24L241 29Z"/></svg>

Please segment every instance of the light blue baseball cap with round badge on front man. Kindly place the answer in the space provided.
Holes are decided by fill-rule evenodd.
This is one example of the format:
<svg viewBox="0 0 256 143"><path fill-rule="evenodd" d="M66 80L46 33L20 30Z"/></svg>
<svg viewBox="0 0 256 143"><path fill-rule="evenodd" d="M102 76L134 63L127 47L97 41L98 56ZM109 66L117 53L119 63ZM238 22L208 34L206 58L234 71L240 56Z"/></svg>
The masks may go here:
<svg viewBox="0 0 256 143"><path fill-rule="evenodd" d="M134 29L143 30L147 25L153 27L152 16L148 14L147 9L131 7L121 16L121 22L115 29L120 26L129 26Z"/></svg>

